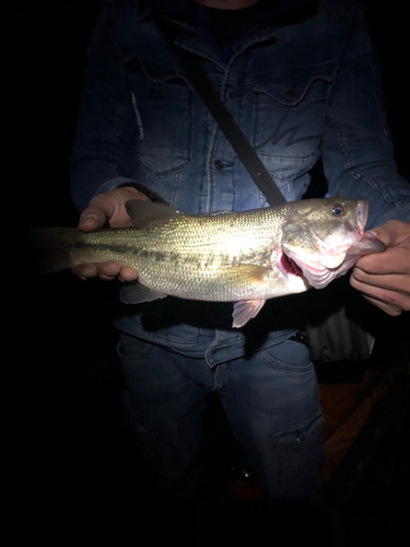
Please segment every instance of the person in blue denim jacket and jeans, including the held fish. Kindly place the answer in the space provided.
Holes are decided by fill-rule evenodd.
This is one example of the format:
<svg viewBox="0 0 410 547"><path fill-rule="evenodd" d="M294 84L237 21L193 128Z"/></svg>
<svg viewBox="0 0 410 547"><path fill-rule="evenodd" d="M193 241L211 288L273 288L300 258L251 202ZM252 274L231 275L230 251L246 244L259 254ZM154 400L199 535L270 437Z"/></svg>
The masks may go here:
<svg viewBox="0 0 410 547"><path fill-rule="evenodd" d="M200 58L280 188L290 207L274 218L265 220L265 196L173 48ZM133 225L136 260L121 259L129 241L77 243L117 254L81 255L73 271L125 282L131 305L115 318L124 401L161 496L190 499L207 480L207 396L216 394L267 497L319 497L323 415L291 294L354 266L351 286L372 304L410 310L410 185L377 83L352 0L104 2L72 197L84 235ZM307 205L319 158L329 197Z"/></svg>

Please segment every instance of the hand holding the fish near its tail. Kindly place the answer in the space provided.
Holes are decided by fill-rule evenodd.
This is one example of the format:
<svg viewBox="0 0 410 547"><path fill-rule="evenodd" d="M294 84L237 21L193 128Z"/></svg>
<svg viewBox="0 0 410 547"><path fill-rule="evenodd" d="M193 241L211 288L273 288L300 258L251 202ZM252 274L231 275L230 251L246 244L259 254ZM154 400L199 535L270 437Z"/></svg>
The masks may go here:
<svg viewBox="0 0 410 547"><path fill-rule="evenodd" d="M145 194L132 186L115 188L106 194L99 194L90 201L89 207L82 212L79 229L84 232L93 232L104 226L122 228L132 225L132 221L126 211L126 202L129 199L150 200ZM98 276L104 281L118 278L120 281L136 281L138 272L126 266L121 268L118 263L108 261L102 264L80 264L72 268L72 272L81 279L90 279Z"/></svg>

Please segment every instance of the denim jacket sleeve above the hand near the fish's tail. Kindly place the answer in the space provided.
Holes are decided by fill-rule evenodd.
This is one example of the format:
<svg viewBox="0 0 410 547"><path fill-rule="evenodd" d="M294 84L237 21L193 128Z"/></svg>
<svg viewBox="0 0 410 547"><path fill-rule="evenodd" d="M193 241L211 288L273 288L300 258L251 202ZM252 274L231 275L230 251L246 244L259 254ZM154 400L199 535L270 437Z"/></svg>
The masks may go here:
<svg viewBox="0 0 410 547"><path fill-rule="evenodd" d="M79 210L95 195L133 183L120 167L122 128L133 113L118 54L113 5L110 0L104 2L87 49L71 164L71 196Z"/></svg>

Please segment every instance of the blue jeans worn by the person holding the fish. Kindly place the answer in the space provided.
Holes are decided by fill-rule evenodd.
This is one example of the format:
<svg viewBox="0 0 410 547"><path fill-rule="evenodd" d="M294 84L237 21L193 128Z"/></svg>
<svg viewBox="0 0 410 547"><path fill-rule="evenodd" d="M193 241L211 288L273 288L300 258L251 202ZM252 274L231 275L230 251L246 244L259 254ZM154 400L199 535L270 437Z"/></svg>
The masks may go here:
<svg viewBox="0 0 410 547"><path fill-rule="evenodd" d="M251 473L271 499L315 501L323 415L307 348L286 340L210 368L121 334L125 404L160 490L195 493L206 440L206 396L218 394Z"/></svg>

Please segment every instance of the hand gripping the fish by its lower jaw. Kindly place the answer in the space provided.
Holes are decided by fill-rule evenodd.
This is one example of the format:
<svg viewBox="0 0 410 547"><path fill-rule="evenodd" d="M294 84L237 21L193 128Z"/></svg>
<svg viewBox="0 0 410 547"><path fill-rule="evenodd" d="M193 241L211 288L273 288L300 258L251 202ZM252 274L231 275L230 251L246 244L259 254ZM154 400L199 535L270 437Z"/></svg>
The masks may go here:
<svg viewBox="0 0 410 547"><path fill-rule="evenodd" d="M350 283L388 315L410 310L410 223L390 220L371 230L388 247L360 258Z"/></svg>

